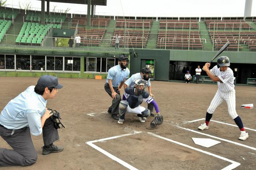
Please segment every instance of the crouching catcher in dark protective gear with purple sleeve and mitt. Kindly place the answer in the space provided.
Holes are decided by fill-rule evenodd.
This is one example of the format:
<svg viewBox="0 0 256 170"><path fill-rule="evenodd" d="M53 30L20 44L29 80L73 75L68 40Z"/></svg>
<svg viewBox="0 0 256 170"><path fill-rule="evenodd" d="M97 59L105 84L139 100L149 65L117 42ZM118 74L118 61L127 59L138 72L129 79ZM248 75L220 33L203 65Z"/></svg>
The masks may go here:
<svg viewBox="0 0 256 170"><path fill-rule="evenodd" d="M142 79L136 79L134 81L134 86L127 87L124 92L126 100L122 100L119 104L119 120L118 124L122 125L124 123L125 114L136 113L140 122L145 122L147 117L150 116L150 110L145 107L140 106L142 101L146 103L153 103L156 110L157 116L152 121L152 126L162 124L163 119L159 119L160 115L158 105L156 101L145 91L145 82Z"/></svg>

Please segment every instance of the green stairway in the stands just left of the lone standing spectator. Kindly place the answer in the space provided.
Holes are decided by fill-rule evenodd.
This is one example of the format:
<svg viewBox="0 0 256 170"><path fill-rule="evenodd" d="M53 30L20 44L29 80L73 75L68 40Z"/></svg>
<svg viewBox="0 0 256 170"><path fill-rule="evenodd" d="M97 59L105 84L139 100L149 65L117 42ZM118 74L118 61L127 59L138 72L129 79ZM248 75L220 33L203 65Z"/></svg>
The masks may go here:
<svg viewBox="0 0 256 170"><path fill-rule="evenodd" d="M116 26L116 20L110 20L108 26L106 27L106 33L103 36L103 40L99 47L111 47L111 40L113 38L113 33Z"/></svg>

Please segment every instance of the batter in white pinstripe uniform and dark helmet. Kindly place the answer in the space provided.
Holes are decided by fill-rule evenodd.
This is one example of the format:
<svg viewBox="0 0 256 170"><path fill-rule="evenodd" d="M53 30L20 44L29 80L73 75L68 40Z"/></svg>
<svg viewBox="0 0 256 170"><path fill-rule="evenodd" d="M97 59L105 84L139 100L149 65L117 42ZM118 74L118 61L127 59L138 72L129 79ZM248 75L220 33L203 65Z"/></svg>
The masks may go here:
<svg viewBox="0 0 256 170"><path fill-rule="evenodd" d="M240 128L241 134L239 140L246 140L248 138L248 132L244 130L244 126L241 118L236 113L236 91L234 89L234 73L230 69L229 58L221 56L217 60L217 65L209 70L210 63L205 63L203 70L207 75L218 83L218 90L212 99L212 102L207 109L205 123L198 127L199 130L208 129L210 119L215 109L225 100L228 105L228 113L234 119L236 125Z"/></svg>

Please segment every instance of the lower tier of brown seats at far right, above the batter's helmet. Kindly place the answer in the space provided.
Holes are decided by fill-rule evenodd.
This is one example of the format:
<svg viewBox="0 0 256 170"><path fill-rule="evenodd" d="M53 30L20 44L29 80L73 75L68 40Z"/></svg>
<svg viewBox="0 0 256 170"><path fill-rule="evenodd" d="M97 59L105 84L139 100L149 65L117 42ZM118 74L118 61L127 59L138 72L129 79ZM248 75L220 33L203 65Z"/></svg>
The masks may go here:
<svg viewBox="0 0 256 170"><path fill-rule="evenodd" d="M249 49L256 49L256 32L213 32L210 36L216 50L220 49L226 42L230 42L227 50L242 49L241 44L246 44ZM239 46L238 46L239 40Z"/></svg>

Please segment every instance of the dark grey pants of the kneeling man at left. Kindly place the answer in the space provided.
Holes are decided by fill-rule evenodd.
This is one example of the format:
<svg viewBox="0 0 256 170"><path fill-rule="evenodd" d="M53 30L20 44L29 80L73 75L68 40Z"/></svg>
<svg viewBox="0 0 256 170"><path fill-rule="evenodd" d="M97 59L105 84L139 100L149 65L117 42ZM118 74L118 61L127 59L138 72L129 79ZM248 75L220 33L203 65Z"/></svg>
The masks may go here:
<svg viewBox="0 0 256 170"><path fill-rule="evenodd" d="M13 148L0 148L0 166L28 166L36 162L37 154L29 127L10 130L0 125L0 136ZM58 130L54 128L50 118L44 123L43 139L44 145L52 144L59 139Z"/></svg>

